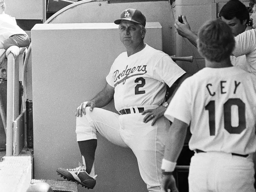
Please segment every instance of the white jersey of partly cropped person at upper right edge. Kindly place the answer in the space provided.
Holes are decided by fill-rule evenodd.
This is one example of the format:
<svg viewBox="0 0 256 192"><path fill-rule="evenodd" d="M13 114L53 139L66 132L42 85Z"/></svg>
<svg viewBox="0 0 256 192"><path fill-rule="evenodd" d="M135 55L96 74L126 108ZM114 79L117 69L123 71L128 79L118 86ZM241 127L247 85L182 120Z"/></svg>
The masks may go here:
<svg viewBox="0 0 256 192"><path fill-rule="evenodd" d="M256 29L244 31L235 40L234 56L245 55L248 71L256 75Z"/></svg>

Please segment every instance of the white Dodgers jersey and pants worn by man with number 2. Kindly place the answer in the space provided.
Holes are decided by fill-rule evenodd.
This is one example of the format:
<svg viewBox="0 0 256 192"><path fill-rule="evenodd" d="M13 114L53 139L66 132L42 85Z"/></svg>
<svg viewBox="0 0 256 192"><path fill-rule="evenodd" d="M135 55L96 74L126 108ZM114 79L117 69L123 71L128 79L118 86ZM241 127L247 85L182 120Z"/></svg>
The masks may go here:
<svg viewBox="0 0 256 192"><path fill-rule="evenodd" d="M96 132L112 143L129 147L137 158L141 178L149 192L160 192L161 162L164 141L170 122L163 116L152 126L144 123L146 115L138 107L154 109L165 99L166 84L171 86L185 73L169 55L146 47L129 57L121 53L114 61L106 80L115 87L115 107L133 107L130 114L118 115L101 108L76 118L77 141L97 139Z"/></svg>

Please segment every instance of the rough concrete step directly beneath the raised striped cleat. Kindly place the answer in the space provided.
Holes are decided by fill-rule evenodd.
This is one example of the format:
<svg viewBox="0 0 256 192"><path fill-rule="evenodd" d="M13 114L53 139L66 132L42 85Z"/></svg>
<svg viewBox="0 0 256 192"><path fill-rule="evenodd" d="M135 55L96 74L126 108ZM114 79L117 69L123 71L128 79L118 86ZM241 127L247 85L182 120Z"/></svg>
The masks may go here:
<svg viewBox="0 0 256 192"><path fill-rule="evenodd" d="M78 192L77 185L71 181L65 180L36 180L32 179L32 183L45 182L48 183L54 192Z"/></svg>

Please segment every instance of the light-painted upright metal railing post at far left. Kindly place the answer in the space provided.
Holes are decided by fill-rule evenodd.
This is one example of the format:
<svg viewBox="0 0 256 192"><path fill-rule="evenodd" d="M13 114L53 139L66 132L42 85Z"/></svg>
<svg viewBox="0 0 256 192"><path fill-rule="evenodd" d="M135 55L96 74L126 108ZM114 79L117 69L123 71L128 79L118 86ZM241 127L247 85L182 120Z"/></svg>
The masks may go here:
<svg viewBox="0 0 256 192"><path fill-rule="evenodd" d="M20 130L24 129L25 104L22 101L19 111L19 81L23 81L23 56L26 48L11 46L6 50L7 57L7 110L6 110L6 156L18 155L24 139ZM16 137L17 136L17 137ZM22 134L24 137L24 134ZM20 141L22 139L22 141ZM19 151L20 152L20 151ZM19 153L18 152L18 153Z"/></svg>

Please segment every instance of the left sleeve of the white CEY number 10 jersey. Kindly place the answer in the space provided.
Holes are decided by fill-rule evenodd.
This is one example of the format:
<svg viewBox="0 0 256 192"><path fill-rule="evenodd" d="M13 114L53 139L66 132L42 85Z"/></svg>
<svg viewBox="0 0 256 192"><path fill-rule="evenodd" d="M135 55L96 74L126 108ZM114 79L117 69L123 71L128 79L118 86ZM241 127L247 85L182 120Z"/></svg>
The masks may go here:
<svg viewBox="0 0 256 192"><path fill-rule="evenodd" d="M182 82L173 96L164 116L173 122L174 118L190 124L191 121L191 93L189 88L189 77Z"/></svg>

